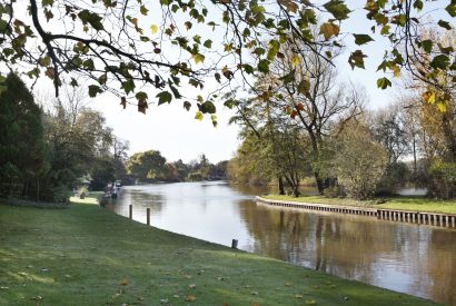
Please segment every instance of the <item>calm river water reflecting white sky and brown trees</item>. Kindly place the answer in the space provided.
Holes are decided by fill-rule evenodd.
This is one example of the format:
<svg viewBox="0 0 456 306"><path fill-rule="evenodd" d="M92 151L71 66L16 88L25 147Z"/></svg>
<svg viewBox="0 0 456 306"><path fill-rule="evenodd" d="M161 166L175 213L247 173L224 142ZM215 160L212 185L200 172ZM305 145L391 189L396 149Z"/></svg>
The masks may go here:
<svg viewBox="0 0 456 306"><path fill-rule="evenodd" d="M225 182L139 185L108 207L151 225L343 278L456 305L456 230L257 204ZM313 193L314 190L305 190Z"/></svg>

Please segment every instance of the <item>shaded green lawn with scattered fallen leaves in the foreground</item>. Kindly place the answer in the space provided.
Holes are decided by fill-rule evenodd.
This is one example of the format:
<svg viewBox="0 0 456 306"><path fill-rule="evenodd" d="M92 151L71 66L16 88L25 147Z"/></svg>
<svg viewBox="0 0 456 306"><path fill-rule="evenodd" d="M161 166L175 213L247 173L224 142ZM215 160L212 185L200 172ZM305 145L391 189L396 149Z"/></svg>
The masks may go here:
<svg viewBox="0 0 456 306"><path fill-rule="evenodd" d="M0 205L0 305L433 304L147 227L93 204Z"/></svg>

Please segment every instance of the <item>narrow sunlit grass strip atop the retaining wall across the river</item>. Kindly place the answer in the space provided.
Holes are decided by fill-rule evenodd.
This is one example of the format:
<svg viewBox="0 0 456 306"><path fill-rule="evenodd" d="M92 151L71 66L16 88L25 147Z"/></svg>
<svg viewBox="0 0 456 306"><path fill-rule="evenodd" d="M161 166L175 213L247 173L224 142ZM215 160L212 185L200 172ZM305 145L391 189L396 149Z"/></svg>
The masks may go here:
<svg viewBox="0 0 456 306"><path fill-rule="evenodd" d="M298 203L315 203L315 204L328 204L328 205L343 205L343 206L357 206L369 208L390 208L403 209L412 211L430 211L442 214L455 214L456 215L456 200L433 200L424 197L393 197L384 199L386 203L377 204L378 200L363 200L357 201L347 198L325 198L321 196L278 196L268 195L261 196L267 199L277 199L285 201L298 201Z"/></svg>

